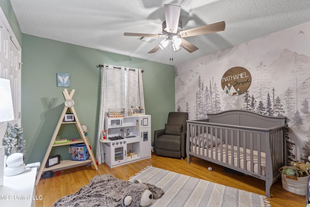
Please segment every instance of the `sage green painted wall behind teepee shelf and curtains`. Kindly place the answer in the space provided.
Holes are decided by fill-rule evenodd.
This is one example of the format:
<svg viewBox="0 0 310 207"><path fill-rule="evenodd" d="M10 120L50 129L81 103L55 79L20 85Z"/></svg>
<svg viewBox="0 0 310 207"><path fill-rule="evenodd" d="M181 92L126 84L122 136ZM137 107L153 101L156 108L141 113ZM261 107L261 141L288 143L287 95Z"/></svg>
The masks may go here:
<svg viewBox="0 0 310 207"><path fill-rule="evenodd" d="M146 61L92 48L22 34L22 127L26 139L26 162L42 161L60 118L64 97L57 87L56 73L70 73L73 100L78 119L88 129L95 150L100 102L100 68L114 64L141 68L145 110L152 115L152 140L155 129L164 128L168 112L175 111L174 66ZM73 125L74 126L74 125ZM78 136L75 127L65 125L62 138ZM55 147L54 147L55 148ZM57 147L53 154L69 158L68 146Z"/></svg>

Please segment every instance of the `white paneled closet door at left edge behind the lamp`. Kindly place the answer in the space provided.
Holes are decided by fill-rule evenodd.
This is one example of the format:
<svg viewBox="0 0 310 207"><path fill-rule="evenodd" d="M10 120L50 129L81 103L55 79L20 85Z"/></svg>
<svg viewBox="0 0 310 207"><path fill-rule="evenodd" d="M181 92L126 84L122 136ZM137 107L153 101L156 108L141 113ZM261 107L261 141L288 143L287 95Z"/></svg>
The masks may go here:
<svg viewBox="0 0 310 207"><path fill-rule="evenodd" d="M0 78L9 79L11 82L15 120L10 121L10 123L12 125L17 123L21 127L21 71L19 69L21 49L18 49L20 46L16 40L13 42L14 34L9 32L12 30L8 28L9 25L2 10L0 13ZM0 140L5 133L6 124L7 122L0 123ZM1 145L2 142L0 142Z"/></svg>

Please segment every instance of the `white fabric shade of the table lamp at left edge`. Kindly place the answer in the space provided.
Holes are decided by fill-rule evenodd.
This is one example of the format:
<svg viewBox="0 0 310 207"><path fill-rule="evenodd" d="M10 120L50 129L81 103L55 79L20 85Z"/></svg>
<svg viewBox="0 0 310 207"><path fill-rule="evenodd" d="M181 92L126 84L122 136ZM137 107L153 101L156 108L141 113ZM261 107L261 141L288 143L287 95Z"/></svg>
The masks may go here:
<svg viewBox="0 0 310 207"><path fill-rule="evenodd" d="M10 80L0 79L0 122L14 119Z"/></svg>

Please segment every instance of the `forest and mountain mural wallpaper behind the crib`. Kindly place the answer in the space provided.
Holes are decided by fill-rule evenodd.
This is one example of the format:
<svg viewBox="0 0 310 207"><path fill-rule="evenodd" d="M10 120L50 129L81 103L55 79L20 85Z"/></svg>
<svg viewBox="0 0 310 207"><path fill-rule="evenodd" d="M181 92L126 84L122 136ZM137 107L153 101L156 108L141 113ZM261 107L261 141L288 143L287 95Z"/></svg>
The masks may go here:
<svg viewBox="0 0 310 207"><path fill-rule="evenodd" d="M222 77L236 66L248 70L251 83L245 93L231 96L222 89ZM290 136L302 144L302 160L310 155L309 101L310 22L175 67L176 111L188 112L191 120L232 109L286 116Z"/></svg>

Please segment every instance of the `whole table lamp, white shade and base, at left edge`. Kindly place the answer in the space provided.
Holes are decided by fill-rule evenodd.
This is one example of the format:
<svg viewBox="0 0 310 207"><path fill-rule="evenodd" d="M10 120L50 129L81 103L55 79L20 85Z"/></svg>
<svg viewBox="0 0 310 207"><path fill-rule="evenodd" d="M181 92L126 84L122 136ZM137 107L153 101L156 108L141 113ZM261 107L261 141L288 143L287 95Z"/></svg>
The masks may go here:
<svg viewBox="0 0 310 207"><path fill-rule="evenodd" d="M0 97L0 122L7 122L13 120L14 110L10 80L0 79ZM0 146L0 186L3 185L5 168L4 148L4 146Z"/></svg>

